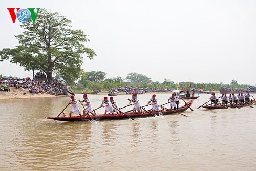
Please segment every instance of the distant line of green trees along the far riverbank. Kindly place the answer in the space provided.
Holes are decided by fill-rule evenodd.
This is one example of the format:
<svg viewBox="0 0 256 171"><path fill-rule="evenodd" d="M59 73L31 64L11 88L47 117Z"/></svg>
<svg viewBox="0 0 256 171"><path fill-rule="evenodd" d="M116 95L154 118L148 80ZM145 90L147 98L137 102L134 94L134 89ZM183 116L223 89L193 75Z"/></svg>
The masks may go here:
<svg viewBox="0 0 256 171"><path fill-rule="evenodd" d="M79 81L72 86L74 90L109 90L116 87L125 87L132 86L138 88L152 88L152 89L177 89L177 82L174 82L170 79L164 79L163 82L152 81L151 78L138 74L138 73L129 73L125 80L121 77L114 78L105 78L106 73L102 71L91 71L83 72ZM190 89L190 82L178 82L178 88L180 90L185 88ZM223 83L195 83L191 81L191 88L203 89L204 91L219 91L221 88L233 88L233 89L247 89L255 88L248 84L238 84L236 80L232 80L230 84Z"/></svg>

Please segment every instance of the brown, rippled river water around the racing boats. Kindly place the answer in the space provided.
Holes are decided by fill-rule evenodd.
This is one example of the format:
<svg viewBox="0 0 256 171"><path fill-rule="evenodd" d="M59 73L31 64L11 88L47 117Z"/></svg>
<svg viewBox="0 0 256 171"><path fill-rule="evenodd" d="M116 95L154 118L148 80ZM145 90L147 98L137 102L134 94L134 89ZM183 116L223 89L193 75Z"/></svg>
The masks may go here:
<svg viewBox="0 0 256 171"><path fill-rule="evenodd" d="M138 95L141 104L151 95ZM97 122L44 118L57 116L69 97L0 100L0 170L256 170L256 105L196 109L209 96L200 94L194 112L183 112L188 117ZM89 97L93 108L103 98ZM168 97L156 96L159 104ZM131 95L114 97L119 106L127 98Z"/></svg>

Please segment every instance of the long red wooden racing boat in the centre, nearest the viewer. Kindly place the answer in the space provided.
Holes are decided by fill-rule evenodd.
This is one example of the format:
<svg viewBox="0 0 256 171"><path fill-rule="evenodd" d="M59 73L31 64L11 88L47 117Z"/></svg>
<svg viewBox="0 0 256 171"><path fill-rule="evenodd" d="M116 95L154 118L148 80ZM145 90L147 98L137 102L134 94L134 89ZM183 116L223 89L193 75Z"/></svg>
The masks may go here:
<svg viewBox="0 0 256 171"><path fill-rule="evenodd" d="M187 104L189 106L191 106L193 103L192 100L188 101ZM179 109L176 110L159 110L159 112L151 112L154 115L168 115L168 114L176 114L177 112L184 112L186 111L189 106L188 105L183 105L181 106ZM153 115L149 114L148 112L144 111L143 113L139 114L139 113L135 113L132 114L132 112L128 112L125 113L126 115L129 115L132 118L143 118L143 117L153 117ZM112 114L108 114L106 116L104 116L104 114L99 114L98 116L91 116L91 118L89 116L87 117L80 117L79 115L77 116L72 116L72 117L56 117L56 116L45 116L44 118L47 119L53 119L53 120L59 120L59 121L69 121L69 122L76 122L76 121L90 121L90 120L118 120L118 119L129 119L129 117L127 117L126 115L123 114L118 114L118 115L112 115Z"/></svg>

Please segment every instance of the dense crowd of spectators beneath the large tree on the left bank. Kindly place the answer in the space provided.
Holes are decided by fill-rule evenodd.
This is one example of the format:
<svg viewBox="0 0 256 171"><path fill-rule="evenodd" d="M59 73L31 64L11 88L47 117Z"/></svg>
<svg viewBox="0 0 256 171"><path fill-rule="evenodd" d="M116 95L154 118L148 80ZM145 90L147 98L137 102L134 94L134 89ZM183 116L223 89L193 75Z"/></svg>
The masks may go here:
<svg viewBox="0 0 256 171"><path fill-rule="evenodd" d="M48 79L35 79L31 80L27 78L10 78L2 77L0 83L0 91L10 92L10 87L16 89L23 89L23 94L26 94L28 90L31 94L51 94L51 95L67 95L67 93L72 93L65 85L58 80L48 80Z"/></svg>

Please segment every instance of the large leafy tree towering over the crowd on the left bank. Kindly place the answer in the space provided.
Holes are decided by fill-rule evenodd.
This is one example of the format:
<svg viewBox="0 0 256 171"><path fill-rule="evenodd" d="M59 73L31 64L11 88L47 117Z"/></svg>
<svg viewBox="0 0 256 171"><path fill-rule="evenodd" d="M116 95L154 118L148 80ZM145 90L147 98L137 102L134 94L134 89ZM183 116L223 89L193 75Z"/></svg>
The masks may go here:
<svg viewBox="0 0 256 171"><path fill-rule="evenodd" d="M82 30L72 30L71 21L57 12L41 9L35 23L30 19L20 27L23 33L15 36L20 45L0 51L1 61L9 59L25 70L43 71L48 79L58 73L73 82L80 76L82 55L90 59L96 56L84 46L89 41L88 35Z"/></svg>

